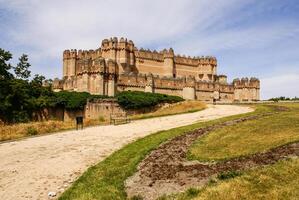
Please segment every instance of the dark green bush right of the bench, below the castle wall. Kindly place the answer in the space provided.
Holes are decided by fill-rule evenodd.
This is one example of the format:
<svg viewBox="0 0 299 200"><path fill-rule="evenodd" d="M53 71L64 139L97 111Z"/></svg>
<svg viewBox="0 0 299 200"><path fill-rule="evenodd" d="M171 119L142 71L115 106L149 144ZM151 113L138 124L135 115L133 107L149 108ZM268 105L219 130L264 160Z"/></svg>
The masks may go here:
<svg viewBox="0 0 299 200"><path fill-rule="evenodd" d="M176 103L184 101L178 96L138 91L125 91L117 94L119 105L127 110L154 107L160 103Z"/></svg>

